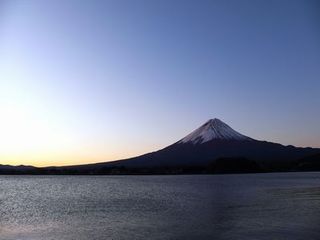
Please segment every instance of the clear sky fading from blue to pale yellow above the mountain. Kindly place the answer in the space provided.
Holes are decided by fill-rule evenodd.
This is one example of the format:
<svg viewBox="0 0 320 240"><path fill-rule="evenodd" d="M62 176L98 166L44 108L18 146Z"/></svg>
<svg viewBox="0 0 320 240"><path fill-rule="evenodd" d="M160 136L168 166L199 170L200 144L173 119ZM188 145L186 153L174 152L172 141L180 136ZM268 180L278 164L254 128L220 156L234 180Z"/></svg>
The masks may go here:
<svg viewBox="0 0 320 240"><path fill-rule="evenodd" d="M320 3L0 0L0 164L165 147L210 118L320 147Z"/></svg>

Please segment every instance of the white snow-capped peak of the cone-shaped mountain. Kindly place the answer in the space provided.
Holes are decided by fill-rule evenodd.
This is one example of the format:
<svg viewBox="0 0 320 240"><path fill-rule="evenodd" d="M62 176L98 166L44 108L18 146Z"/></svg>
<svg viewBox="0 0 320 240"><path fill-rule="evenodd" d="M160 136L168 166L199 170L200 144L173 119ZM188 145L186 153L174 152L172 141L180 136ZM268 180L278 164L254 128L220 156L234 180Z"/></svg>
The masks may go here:
<svg viewBox="0 0 320 240"><path fill-rule="evenodd" d="M233 130L221 120L214 118L207 121L201 127L181 139L178 143L201 144L211 140L238 140L251 141L252 138L244 136Z"/></svg>

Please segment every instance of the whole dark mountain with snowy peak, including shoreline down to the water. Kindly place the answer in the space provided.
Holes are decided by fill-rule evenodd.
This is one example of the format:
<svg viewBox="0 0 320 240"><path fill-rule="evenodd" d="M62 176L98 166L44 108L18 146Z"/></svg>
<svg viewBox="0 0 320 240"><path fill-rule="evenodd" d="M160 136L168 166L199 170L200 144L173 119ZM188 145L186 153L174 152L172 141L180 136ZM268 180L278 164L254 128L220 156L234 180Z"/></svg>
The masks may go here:
<svg viewBox="0 0 320 240"><path fill-rule="evenodd" d="M156 152L113 162L26 171L39 174L294 171L303 169L301 159L315 154L320 154L320 149L255 140L238 133L219 119L211 119L180 141ZM319 162L314 161L316 164ZM308 166L305 170L312 170L312 166Z"/></svg>

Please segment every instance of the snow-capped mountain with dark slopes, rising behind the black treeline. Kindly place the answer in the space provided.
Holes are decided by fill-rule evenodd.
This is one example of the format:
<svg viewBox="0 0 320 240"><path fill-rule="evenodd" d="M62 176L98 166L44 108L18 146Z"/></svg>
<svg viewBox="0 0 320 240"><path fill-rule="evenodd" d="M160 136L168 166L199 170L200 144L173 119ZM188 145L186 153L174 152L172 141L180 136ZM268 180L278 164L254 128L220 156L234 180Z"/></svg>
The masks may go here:
<svg viewBox="0 0 320 240"><path fill-rule="evenodd" d="M229 163L234 162L234 159L241 159L236 163L247 159L250 162L245 164L258 165L261 171L288 171L294 170L299 159L316 153L320 153L320 149L283 146L250 138L214 118L181 140L159 151L124 160L70 166L65 169L75 172L101 173L115 169L116 172L124 169L144 169L146 172L150 169L176 171L177 169L206 169L221 159L229 159ZM253 165L252 162L254 162Z"/></svg>

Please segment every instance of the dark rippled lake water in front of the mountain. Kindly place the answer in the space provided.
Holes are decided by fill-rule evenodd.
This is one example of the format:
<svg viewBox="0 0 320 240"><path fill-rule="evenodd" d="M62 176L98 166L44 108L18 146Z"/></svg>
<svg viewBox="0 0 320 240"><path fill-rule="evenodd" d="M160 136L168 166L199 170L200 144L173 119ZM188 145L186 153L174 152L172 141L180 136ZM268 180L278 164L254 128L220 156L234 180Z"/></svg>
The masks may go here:
<svg viewBox="0 0 320 240"><path fill-rule="evenodd" d="M0 239L320 239L320 173L0 176Z"/></svg>

